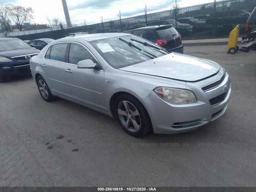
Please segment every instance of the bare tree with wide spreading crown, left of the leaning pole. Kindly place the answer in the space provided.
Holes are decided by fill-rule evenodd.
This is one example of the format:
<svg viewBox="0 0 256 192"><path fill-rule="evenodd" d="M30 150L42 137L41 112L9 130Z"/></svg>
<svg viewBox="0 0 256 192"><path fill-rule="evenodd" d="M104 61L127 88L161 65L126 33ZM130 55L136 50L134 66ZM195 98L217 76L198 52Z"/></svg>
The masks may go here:
<svg viewBox="0 0 256 192"><path fill-rule="evenodd" d="M33 13L31 7L24 8L13 4L7 4L6 6L10 18L15 22L16 26L22 31L22 25L24 22L29 22L33 19Z"/></svg>

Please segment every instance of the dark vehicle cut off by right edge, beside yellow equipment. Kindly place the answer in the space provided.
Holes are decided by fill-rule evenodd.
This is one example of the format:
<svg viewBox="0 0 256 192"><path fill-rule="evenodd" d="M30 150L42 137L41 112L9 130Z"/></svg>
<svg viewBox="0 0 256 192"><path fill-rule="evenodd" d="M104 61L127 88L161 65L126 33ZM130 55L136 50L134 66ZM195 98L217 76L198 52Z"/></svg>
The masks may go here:
<svg viewBox="0 0 256 192"><path fill-rule="evenodd" d="M248 42L256 40L256 8L251 12L245 24L246 36L243 40L248 39Z"/></svg>

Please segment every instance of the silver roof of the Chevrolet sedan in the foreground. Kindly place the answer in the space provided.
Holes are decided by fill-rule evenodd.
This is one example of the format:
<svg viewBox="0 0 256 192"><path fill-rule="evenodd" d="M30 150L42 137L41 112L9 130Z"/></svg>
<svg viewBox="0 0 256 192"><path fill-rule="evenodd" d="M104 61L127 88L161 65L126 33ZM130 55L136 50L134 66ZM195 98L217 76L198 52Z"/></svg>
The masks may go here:
<svg viewBox="0 0 256 192"><path fill-rule="evenodd" d="M86 41L94 41L94 40L100 40L100 39L106 39L106 38L111 38L111 37L118 37L118 36L127 36L130 34L125 34L125 33L95 33L95 34L84 34L84 35L78 35L78 36L68 36L59 39L60 41L69 41L69 40L74 40L74 38L79 38L83 39ZM58 40L57 40L58 41Z"/></svg>

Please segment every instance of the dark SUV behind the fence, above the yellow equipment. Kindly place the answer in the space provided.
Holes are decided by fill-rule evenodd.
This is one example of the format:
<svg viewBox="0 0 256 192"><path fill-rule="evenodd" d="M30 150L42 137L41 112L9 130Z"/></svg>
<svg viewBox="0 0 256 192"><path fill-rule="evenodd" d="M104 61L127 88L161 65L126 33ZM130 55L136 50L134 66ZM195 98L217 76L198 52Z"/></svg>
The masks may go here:
<svg viewBox="0 0 256 192"><path fill-rule="evenodd" d="M212 34L229 33L236 25L240 24L240 30L245 30L242 27L250 13L243 10L226 10L212 13L206 18L206 24L210 27Z"/></svg>

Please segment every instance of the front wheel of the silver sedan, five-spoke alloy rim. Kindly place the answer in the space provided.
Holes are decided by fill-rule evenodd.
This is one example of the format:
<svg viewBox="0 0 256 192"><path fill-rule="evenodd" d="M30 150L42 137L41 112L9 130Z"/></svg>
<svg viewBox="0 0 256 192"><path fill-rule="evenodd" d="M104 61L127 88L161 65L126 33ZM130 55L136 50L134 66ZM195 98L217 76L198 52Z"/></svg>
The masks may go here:
<svg viewBox="0 0 256 192"><path fill-rule="evenodd" d="M131 136L144 136L152 130L148 112L137 98L120 95L114 104L114 111L120 126Z"/></svg>

